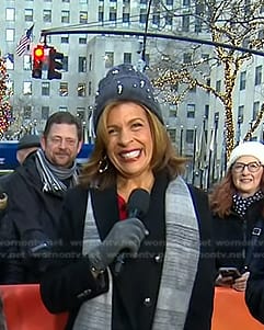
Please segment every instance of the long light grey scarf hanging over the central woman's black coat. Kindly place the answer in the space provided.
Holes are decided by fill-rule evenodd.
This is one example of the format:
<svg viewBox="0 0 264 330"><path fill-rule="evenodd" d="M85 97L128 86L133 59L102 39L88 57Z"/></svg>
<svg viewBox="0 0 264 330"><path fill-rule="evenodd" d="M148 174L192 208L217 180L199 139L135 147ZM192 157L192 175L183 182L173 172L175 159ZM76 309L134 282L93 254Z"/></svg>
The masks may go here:
<svg viewBox="0 0 264 330"><path fill-rule="evenodd" d="M199 259L199 229L193 200L182 178L172 181L165 193L167 248L152 330L183 330ZM100 241L88 200L83 234L83 254ZM112 294L110 289L82 304L73 330L111 330ZM203 303L202 303L203 304Z"/></svg>

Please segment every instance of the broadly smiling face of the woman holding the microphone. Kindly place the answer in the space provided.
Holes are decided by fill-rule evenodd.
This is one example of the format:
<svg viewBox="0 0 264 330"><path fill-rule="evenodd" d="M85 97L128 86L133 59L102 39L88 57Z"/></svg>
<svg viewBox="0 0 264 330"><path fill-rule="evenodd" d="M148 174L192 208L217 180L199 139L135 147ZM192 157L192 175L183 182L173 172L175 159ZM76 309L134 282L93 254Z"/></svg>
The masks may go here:
<svg viewBox="0 0 264 330"><path fill-rule="evenodd" d="M134 102L115 105L107 115L107 156L125 178L149 173L153 153L148 116Z"/></svg>

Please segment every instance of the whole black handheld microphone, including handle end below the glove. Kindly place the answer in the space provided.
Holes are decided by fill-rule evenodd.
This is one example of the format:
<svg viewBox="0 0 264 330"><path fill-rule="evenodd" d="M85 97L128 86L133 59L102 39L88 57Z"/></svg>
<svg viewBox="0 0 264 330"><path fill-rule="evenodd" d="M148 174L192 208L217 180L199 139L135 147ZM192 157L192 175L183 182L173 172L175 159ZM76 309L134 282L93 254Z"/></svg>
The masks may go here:
<svg viewBox="0 0 264 330"><path fill-rule="evenodd" d="M145 216L149 209L150 195L145 189L135 189L127 202L127 210L129 218L139 218ZM125 263L125 252L122 252L116 258L115 274L120 273L122 266Z"/></svg>

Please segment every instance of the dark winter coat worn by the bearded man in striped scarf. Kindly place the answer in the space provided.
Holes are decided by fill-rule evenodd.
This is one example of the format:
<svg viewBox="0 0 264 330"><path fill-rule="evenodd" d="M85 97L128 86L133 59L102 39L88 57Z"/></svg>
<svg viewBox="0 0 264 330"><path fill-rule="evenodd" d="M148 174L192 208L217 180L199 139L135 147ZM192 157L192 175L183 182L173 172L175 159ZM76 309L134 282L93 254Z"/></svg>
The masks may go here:
<svg viewBox="0 0 264 330"><path fill-rule="evenodd" d="M38 263L31 248L58 239L58 219L65 194L43 192L32 155L9 175L5 189L8 209L0 223L1 284L39 282Z"/></svg>

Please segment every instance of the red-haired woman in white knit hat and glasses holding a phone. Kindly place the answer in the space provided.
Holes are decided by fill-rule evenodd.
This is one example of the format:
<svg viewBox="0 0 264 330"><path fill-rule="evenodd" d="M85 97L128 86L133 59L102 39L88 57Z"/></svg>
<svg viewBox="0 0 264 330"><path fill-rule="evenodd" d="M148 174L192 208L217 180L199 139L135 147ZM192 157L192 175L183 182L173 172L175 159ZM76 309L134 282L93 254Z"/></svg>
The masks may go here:
<svg viewBox="0 0 264 330"><path fill-rule="evenodd" d="M210 194L216 236L216 285L245 291L253 251L262 234L264 209L264 145L246 141L229 158L227 173Z"/></svg>

